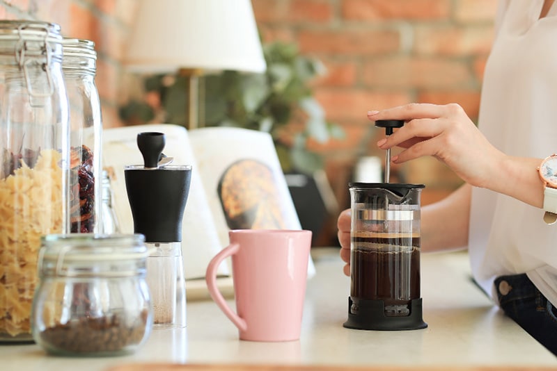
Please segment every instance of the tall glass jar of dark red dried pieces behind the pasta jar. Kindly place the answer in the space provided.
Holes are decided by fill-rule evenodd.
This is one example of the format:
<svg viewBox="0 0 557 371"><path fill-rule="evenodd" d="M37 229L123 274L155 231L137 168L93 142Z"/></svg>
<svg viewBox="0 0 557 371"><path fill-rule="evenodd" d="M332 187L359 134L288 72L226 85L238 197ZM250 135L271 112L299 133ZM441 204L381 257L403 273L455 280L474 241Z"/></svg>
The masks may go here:
<svg viewBox="0 0 557 371"><path fill-rule="evenodd" d="M102 117L95 85L95 43L63 39L62 72L70 103L70 232L99 233Z"/></svg>

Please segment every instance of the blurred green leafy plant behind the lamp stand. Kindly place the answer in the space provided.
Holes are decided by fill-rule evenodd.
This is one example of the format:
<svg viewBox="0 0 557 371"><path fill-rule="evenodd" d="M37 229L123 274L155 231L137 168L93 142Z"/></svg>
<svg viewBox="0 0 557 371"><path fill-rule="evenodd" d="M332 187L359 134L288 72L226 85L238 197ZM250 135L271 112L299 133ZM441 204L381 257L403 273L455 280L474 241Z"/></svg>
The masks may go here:
<svg viewBox="0 0 557 371"><path fill-rule="evenodd" d="M263 46L267 70L263 74L226 71L203 77L201 112L205 126L237 126L272 135L285 172L311 174L322 168L322 156L308 150L308 140L320 143L343 138L336 124L327 122L313 97L311 80L324 71L319 60L301 56L294 44L273 42ZM187 77L151 76L145 80L148 93L161 101L165 121L187 122ZM146 102L130 101L120 108L125 122L148 122L157 108Z"/></svg>

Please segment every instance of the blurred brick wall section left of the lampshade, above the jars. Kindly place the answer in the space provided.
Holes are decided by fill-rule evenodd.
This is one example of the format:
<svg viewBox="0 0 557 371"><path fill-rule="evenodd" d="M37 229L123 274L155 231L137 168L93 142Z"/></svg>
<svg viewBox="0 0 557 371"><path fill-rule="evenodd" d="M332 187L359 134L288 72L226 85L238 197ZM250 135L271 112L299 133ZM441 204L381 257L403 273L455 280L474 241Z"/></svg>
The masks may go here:
<svg viewBox="0 0 557 371"><path fill-rule="evenodd" d="M134 81L121 65L136 0L0 0L0 19L35 19L60 24L62 34L93 40L105 127L121 126L118 104Z"/></svg>

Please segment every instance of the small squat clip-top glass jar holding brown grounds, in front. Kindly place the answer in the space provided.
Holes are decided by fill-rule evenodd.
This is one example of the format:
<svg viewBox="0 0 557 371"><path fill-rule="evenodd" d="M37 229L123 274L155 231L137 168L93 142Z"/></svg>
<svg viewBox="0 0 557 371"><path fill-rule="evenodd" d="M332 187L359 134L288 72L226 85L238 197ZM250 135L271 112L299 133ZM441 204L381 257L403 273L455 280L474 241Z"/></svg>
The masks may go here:
<svg viewBox="0 0 557 371"><path fill-rule="evenodd" d="M42 238L33 338L52 354L134 352L152 329L141 234L71 233Z"/></svg>

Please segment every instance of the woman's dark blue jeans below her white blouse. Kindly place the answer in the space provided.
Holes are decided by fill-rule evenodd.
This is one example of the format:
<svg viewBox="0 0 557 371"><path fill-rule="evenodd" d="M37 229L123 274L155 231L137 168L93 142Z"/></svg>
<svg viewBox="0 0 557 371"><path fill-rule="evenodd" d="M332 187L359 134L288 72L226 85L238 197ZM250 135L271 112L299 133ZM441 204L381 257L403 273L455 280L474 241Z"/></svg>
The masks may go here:
<svg viewBox="0 0 557 371"><path fill-rule="evenodd" d="M497 277L495 288L505 315L557 356L557 308L526 274Z"/></svg>

